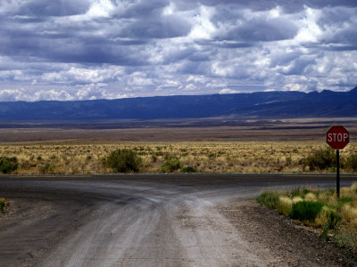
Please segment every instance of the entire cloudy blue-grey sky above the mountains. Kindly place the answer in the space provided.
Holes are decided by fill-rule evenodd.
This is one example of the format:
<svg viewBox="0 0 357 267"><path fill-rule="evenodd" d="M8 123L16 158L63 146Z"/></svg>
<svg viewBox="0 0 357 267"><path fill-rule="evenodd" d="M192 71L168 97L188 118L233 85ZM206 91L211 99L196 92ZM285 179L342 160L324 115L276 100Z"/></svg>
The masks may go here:
<svg viewBox="0 0 357 267"><path fill-rule="evenodd" d="M0 36L0 101L357 85L355 0L1 0Z"/></svg>

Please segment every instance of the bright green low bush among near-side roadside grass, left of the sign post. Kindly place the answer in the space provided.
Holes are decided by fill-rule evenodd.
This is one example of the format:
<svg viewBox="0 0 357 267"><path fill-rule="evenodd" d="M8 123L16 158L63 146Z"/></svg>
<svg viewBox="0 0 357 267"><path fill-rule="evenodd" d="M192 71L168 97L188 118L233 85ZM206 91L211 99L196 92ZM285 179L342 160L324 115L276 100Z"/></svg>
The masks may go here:
<svg viewBox="0 0 357 267"><path fill-rule="evenodd" d="M314 222L323 204L319 201L299 201L293 204L289 217L301 222Z"/></svg>

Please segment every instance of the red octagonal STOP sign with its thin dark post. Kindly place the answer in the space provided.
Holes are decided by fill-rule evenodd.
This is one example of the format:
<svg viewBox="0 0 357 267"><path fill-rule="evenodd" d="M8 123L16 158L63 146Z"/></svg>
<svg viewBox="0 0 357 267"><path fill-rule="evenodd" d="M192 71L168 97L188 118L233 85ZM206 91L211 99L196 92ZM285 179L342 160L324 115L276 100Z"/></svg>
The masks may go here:
<svg viewBox="0 0 357 267"><path fill-rule="evenodd" d="M342 125L336 125L329 128L326 134L326 142L336 150L336 194L340 197L340 150L350 142L350 133Z"/></svg>

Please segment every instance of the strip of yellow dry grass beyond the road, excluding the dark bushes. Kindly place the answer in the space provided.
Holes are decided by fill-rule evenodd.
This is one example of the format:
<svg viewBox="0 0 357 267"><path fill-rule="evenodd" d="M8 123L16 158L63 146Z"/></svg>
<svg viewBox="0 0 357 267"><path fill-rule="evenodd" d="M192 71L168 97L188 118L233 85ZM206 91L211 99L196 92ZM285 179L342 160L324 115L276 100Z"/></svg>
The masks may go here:
<svg viewBox="0 0 357 267"><path fill-rule="evenodd" d="M110 173L102 158L113 150L136 150L143 159L142 172L156 173L170 156L182 166L204 173L309 172L302 160L324 142L26 142L0 143L0 156L17 157L15 174ZM350 143L341 157L357 153Z"/></svg>

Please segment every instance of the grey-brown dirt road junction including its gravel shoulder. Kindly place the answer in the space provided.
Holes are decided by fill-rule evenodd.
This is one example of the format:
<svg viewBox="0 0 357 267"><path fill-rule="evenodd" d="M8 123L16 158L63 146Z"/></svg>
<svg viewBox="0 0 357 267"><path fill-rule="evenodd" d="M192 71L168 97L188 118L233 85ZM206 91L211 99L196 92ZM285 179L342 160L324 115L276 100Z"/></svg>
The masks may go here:
<svg viewBox="0 0 357 267"><path fill-rule="evenodd" d="M357 175L342 176L342 185ZM345 266L339 249L252 200L327 174L1 176L0 266ZM284 245L285 244L285 245ZM323 251L323 253L321 253Z"/></svg>

